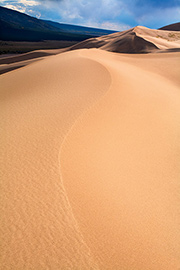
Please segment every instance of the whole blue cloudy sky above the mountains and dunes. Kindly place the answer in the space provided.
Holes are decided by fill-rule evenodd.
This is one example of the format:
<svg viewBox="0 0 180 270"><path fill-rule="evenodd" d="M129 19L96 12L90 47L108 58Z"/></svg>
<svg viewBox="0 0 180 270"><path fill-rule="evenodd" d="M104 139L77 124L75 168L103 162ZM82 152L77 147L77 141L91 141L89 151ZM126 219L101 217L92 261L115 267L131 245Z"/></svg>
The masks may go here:
<svg viewBox="0 0 180 270"><path fill-rule="evenodd" d="M0 0L0 5L40 19L118 31L180 21L180 0Z"/></svg>

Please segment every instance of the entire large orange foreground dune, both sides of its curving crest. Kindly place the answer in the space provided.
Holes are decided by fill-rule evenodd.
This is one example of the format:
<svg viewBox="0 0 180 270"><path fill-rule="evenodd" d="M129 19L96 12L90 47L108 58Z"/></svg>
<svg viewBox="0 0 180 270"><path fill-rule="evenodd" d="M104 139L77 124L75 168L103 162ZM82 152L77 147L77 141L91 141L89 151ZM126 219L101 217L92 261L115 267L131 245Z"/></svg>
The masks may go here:
<svg viewBox="0 0 180 270"><path fill-rule="evenodd" d="M0 269L180 269L179 74L82 49L0 76Z"/></svg>

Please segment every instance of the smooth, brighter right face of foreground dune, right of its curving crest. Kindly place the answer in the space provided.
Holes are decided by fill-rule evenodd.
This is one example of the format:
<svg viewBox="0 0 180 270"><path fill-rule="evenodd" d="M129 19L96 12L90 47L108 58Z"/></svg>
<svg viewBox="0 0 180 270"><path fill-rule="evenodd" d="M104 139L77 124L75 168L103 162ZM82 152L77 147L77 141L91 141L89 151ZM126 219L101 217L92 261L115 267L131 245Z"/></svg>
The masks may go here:
<svg viewBox="0 0 180 270"><path fill-rule="evenodd" d="M84 239L100 269L178 269L179 88L153 66L144 71L97 50L83 55L112 77L61 149L63 182Z"/></svg>

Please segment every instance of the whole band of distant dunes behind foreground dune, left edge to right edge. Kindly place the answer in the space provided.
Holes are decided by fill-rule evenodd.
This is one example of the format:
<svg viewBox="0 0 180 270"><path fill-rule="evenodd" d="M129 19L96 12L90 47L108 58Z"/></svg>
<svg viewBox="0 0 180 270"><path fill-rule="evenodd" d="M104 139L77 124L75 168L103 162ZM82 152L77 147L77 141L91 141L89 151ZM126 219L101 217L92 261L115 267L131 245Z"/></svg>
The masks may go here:
<svg viewBox="0 0 180 270"><path fill-rule="evenodd" d="M178 24L177 24L178 25ZM71 47L55 50L37 50L0 59L0 74L27 66L50 55L77 49L99 48L117 53L179 52L180 31L152 30L137 26L130 30L91 38Z"/></svg>

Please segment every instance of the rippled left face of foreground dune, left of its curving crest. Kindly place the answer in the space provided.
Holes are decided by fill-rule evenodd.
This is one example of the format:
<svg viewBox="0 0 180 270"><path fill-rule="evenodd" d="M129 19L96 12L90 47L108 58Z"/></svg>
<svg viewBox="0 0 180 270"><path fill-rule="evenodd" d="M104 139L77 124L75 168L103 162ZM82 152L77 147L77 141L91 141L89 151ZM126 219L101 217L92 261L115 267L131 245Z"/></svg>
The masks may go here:
<svg viewBox="0 0 180 270"><path fill-rule="evenodd" d="M110 82L101 64L78 51L1 76L0 269L99 269L74 219L58 155L71 125Z"/></svg>

